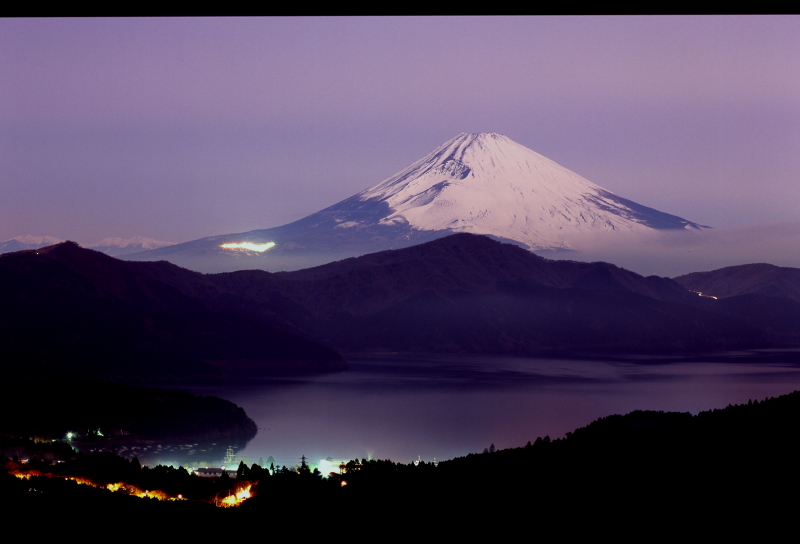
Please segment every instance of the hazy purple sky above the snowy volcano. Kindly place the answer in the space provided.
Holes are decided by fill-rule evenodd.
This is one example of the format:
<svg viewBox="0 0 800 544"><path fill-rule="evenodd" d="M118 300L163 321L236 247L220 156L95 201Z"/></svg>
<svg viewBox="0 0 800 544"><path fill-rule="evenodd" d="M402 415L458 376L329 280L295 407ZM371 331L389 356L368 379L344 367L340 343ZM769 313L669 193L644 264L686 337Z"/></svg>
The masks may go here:
<svg viewBox="0 0 800 544"><path fill-rule="evenodd" d="M460 132L800 222L800 17L4 19L0 103L0 240L278 226Z"/></svg>

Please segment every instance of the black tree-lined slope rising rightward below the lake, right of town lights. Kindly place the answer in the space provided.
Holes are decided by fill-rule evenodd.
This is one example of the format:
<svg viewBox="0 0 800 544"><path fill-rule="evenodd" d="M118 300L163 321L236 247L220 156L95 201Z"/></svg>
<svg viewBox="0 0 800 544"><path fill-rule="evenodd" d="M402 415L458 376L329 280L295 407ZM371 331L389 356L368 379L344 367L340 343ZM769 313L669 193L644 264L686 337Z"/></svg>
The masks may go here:
<svg viewBox="0 0 800 544"><path fill-rule="evenodd" d="M704 527L733 536L743 527L794 523L798 429L798 392L696 416L635 411L566 438L532 438L496 451L492 445L439 463L356 460L334 481L346 486L302 475L263 479L243 510L270 511L280 491L285 498L363 505L360 519L376 526L423 504L430 516L408 514L409 522L439 520L442 531L464 536L498 523L515 534L641 537Z"/></svg>

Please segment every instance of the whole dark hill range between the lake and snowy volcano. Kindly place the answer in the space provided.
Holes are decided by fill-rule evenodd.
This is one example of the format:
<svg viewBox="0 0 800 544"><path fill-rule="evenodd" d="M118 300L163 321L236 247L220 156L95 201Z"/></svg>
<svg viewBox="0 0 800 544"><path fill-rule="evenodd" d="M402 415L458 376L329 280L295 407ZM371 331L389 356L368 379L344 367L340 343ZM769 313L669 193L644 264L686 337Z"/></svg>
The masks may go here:
<svg viewBox="0 0 800 544"><path fill-rule="evenodd" d="M0 257L0 345L15 375L186 381L220 369L345 368L334 349L744 349L791 341L800 314L775 314L789 316L787 329L711 302L668 278L470 234L278 274L205 275L69 242Z"/></svg>

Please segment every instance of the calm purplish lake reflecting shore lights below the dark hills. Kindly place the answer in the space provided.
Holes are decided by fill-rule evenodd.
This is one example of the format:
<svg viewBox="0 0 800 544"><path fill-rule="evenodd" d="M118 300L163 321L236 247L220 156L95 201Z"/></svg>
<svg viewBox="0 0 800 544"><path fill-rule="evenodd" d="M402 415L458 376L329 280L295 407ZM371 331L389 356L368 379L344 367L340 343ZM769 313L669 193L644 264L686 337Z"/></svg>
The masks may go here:
<svg viewBox="0 0 800 544"><path fill-rule="evenodd" d="M800 389L792 353L783 361L775 352L677 361L361 356L338 374L187 389L233 401L258 424L236 463L430 461L563 437L637 409L696 414L790 393Z"/></svg>

